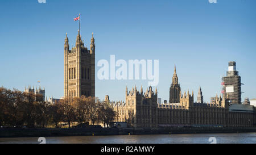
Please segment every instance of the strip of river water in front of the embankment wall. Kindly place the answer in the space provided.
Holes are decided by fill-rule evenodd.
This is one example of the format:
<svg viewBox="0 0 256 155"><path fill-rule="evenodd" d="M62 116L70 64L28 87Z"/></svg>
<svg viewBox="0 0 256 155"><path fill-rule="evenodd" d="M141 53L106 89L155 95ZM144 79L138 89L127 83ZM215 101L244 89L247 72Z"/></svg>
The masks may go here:
<svg viewBox="0 0 256 155"><path fill-rule="evenodd" d="M3 143L39 144L39 137L0 138ZM198 133L173 135L118 135L45 137L47 144L256 144L254 133Z"/></svg>

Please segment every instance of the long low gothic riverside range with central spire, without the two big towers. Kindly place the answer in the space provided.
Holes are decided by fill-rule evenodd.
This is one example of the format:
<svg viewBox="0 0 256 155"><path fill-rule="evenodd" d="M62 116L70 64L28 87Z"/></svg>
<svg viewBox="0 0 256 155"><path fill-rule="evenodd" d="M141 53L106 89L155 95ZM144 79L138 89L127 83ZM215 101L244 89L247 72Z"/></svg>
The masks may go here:
<svg viewBox="0 0 256 155"><path fill-rule="evenodd" d="M176 71L175 73L176 74ZM177 83L177 77L174 75ZM174 85L171 85L171 87ZM177 86L177 85L176 85ZM171 89L170 89L171 90ZM249 105L229 105L228 96L217 97L214 103L203 103L203 95L199 89L199 97L194 102L193 91L184 94L172 95L170 100L178 103L158 104L157 89L152 91L149 87L143 94L135 86L129 92L126 87L126 102L111 102L106 96L105 102L109 102L117 112L115 122L127 122L135 128L156 127L252 127L256 123L255 107ZM170 93L171 95L171 93Z"/></svg>

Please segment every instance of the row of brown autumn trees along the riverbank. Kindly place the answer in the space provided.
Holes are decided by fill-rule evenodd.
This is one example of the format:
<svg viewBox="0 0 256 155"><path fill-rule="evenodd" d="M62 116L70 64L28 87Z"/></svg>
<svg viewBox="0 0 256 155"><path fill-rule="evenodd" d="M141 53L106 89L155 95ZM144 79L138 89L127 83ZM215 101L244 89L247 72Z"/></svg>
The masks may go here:
<svg viewBox="0 0 256 155"><path fill-rule="evenodd" d="M53 125L61 128L73 122L90 122L109 126L116 112L108 103L94 97L63 98L55 104L44 101L43 96L0 87L0 126L45 128Z"/></svg>

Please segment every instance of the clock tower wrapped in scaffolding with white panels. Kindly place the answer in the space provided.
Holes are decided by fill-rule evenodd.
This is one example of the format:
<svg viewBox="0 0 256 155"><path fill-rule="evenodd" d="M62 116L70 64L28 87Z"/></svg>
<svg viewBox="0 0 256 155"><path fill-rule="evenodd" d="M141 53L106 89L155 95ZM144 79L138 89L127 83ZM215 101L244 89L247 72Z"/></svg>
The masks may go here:
<svg viewBox="0 0 256 155"><path fill-rule="evenodd" d="M230 61L226 77L222 77L222 93L230 100L230 104L241 104L241 77L236 70L236 62Z"/></svg>

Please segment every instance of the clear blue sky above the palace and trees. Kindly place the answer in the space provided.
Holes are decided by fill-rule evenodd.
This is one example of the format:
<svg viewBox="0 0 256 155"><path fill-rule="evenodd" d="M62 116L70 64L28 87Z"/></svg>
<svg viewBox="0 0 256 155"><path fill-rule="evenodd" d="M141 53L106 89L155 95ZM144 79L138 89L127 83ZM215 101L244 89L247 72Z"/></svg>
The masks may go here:
<svg viewBox="0 0 256 155"><path fill-rule="evenodd" d="M94 32L96 64L110 55L159 60L162 100L169 98L174 64L182 92L189 89L197 95L201 85L205 100L220 95L228 61L237 61L245 84L242 100L256 98L255 6L255 0L1 1L0 86L24 90L40 80L48 97L63 97L65 33L74 45L78 23L73 18L80 13L88 47ZM126 84L129 89L147 87L145 80L96 78L96 96L124 100Z"/></svg>

